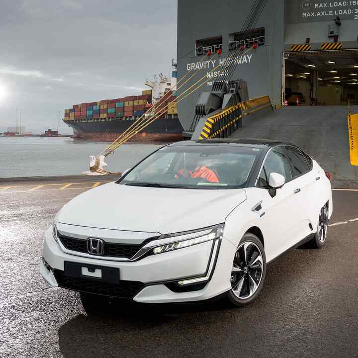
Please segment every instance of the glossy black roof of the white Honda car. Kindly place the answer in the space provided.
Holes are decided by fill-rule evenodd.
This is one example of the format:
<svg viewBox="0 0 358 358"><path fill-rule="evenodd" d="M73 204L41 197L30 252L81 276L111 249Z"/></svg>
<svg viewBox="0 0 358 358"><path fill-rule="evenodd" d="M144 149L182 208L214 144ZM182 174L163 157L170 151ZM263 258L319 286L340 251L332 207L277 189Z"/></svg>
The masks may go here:
<svg viewBox="0 0 358 358"><path fill-rule="evenodd" d="M198 145L198 144L210 144L210 145L233 145L233 146L242 146L242 147L255 147L255 148L271 148L277 145L290 145L296 147L294 144L288 142L281 142L272 139L253 139L253 138L214 138L214 139L202 139L202 140L187 140L181 142L175 142L169 144L172 146L186 146L186 145Z"/></svg>

